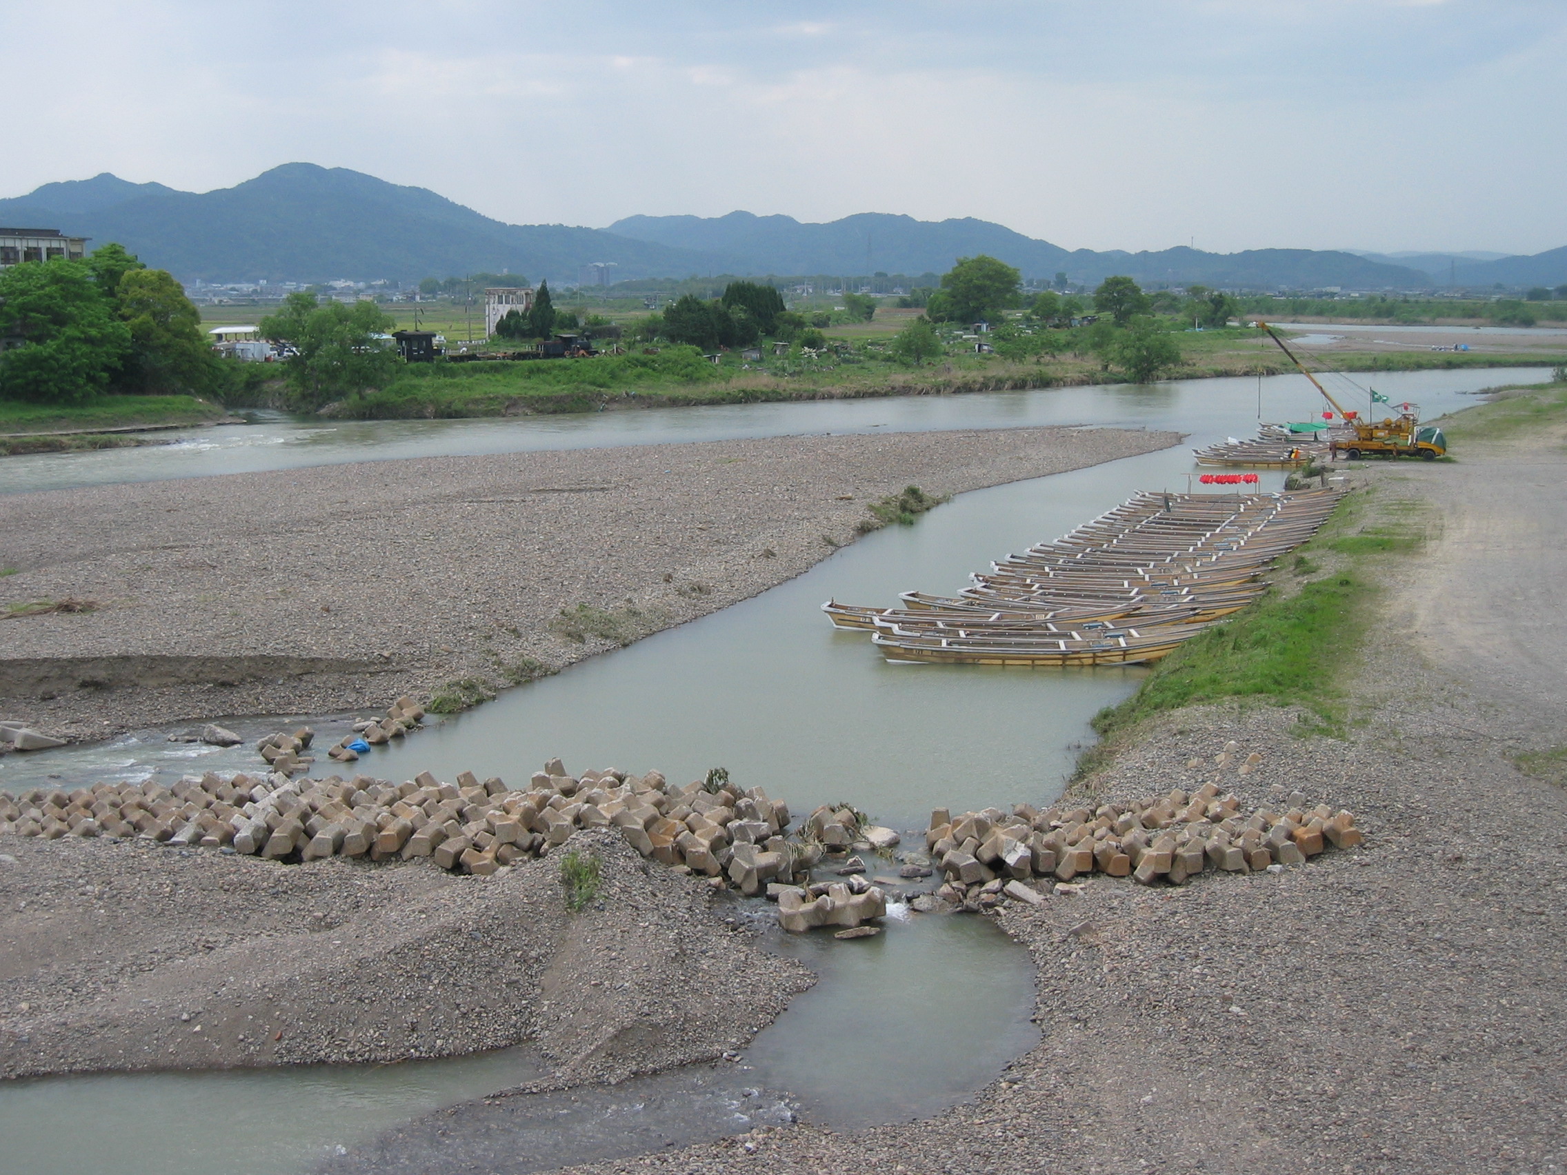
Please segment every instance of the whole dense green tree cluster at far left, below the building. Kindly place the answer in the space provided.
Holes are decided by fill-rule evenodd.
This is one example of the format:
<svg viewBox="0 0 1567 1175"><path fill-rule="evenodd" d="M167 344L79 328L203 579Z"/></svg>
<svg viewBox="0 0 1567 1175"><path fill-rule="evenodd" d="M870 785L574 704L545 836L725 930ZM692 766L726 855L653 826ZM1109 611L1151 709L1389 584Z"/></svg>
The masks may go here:
<svg viewBox="0 0 1567 1175"><path fill-rule="evenodd" d="M204 395L223 382L201 313L119 244L0 271L0 398L71 404L103 392Z"/></svg>

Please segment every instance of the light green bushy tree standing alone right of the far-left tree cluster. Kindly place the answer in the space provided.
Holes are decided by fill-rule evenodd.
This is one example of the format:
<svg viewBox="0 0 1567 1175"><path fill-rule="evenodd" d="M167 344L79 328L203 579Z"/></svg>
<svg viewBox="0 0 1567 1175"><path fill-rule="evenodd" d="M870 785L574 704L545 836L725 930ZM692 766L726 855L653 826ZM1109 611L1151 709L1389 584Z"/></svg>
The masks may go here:
<svg viewBox="0 0 1567 1175"><path fill-rule="evenodd" d="M291 293L276 315L260 323L262 335L293 348L284 374L293 400L320 407L329 400L384 387L396 354L376 335L393 326L375 302L320 306L315 295Z"/></svg>

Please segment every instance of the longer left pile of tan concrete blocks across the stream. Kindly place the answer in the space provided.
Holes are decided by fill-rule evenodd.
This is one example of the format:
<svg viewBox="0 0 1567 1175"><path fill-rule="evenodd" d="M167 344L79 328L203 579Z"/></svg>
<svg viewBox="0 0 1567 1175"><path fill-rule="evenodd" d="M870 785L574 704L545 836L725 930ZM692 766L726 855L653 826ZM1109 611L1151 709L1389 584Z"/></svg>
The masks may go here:
<svg viewBox="0 0 1567 1175"><path fill-rule="evenodd" d="M368 776L290 779L274 771L207 772L171 788L97 783L71 793L34 790L16 801L0 797L0 833L144 837L229 846L279 862L429 857L443 870L475 874L544 855L577 829L614 826L644 857L727 879L746 895L787 882L820 860L820 848L784 840L788 824L788 805L762 788L708 790L700 782L679 788L657 771L584 771L577 777L558 758L517 791L500 779L481 783L472 772L458 776L456 783L442 783L428 771L392 783Z"/></svg>

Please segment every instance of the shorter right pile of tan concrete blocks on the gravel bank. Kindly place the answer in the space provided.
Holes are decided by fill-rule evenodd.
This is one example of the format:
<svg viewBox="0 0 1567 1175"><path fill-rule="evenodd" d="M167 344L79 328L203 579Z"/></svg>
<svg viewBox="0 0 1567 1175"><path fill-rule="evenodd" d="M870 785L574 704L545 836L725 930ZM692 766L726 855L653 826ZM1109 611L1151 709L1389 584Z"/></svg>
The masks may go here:
<svg viewBox="0 0 1567 1175"><path fill-rule="evenodd" d="M1070 882L1086 873L1182 885L1210 866L1252 873L1304 865L1327 846L1348 849L1360 840L1349 812L1313 807L1293 793L1279 808L1247 813L1216 783L1092 810L1019 804L1011 813L986 808L954 818L939 808L926 832L926 846L959 899L970 887L1003 891L1009 880Z"/></svg>

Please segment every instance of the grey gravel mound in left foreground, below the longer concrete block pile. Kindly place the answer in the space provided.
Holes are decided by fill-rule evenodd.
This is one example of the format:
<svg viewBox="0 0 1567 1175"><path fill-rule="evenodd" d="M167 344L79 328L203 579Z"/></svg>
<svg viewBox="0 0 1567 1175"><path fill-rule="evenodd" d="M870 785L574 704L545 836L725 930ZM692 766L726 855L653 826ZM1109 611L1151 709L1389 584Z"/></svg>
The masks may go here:
<svg viewBox="0 0 1567 1175"><path fill-rule="evenodd" d="M721 1056L810 985L617 830L489 877L5 838L0 1076L398 1061L531 1043L556 1079Z"/></svg>

